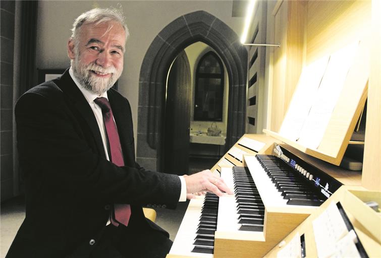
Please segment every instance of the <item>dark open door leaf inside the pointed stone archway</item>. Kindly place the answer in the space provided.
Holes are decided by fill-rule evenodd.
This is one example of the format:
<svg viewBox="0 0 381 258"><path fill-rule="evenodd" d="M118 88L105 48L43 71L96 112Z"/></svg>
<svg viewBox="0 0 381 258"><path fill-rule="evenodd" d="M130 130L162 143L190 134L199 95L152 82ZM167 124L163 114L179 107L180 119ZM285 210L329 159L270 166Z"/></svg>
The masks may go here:
<svg viewBox="0 0 381 258"><path fill-rule="evenodd" d="M173 62L167 80L162 171L188 174L191 76L188 57L183 50Z"/></svg>

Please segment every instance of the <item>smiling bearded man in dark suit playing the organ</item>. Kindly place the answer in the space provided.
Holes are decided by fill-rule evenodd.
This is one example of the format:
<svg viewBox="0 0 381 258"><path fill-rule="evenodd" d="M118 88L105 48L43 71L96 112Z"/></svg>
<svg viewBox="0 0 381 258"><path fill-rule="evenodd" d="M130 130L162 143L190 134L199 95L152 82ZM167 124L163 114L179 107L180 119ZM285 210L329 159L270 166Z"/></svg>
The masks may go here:
<svg viewBox="0 0 381 258"><path fill-rule="evenodd" d="M141 168L129 102L111 89L123 70L123 16L93 9L72 32L70 70L15 108L26 218L7 257L163 257L172 242L142 205L175 208L192 193L232 191L208 170L179 177Z"/></svg>

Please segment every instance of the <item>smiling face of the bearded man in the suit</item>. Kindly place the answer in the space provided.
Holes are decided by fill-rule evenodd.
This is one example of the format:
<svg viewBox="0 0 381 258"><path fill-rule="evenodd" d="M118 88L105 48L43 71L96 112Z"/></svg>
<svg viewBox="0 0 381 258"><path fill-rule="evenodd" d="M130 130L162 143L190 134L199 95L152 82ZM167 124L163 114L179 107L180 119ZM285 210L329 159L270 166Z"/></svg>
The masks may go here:
<svg viewBox="0 0 381 258"><path fill-rule="evenodd" d="M100 95L122 74L126 32L116 22L84 24L78 38L68 43L74 76L87 90Z"/></svg>

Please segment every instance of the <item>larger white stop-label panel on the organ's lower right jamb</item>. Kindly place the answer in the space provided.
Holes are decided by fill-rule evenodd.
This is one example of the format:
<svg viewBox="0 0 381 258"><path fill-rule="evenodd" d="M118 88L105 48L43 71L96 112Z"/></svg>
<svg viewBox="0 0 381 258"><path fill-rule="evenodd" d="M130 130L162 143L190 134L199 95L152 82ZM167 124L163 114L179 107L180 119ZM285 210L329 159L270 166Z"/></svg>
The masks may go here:
<svg viewBox="0 0 381 258"><path fill-rule="evenodd" d="M323 213L312 221L312 227L318 257L328 257L335 253L336 243L348 234L347 226L335 202L332 202Z"/></svg>

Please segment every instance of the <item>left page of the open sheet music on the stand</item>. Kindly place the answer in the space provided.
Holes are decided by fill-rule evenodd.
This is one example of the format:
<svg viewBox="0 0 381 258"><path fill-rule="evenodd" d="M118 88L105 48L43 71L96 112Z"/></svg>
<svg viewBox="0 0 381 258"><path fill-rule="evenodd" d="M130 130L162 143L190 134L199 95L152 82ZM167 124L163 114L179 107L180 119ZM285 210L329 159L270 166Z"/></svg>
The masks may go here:
<svg viewBox="0 0 381 258"><path fill-rule="evenodd" d="M307 119L312 102L316 97L328 60L329 56L324 56L303 69L279 131L281 136L293 141L298 140L304 121Z"/></svg>

